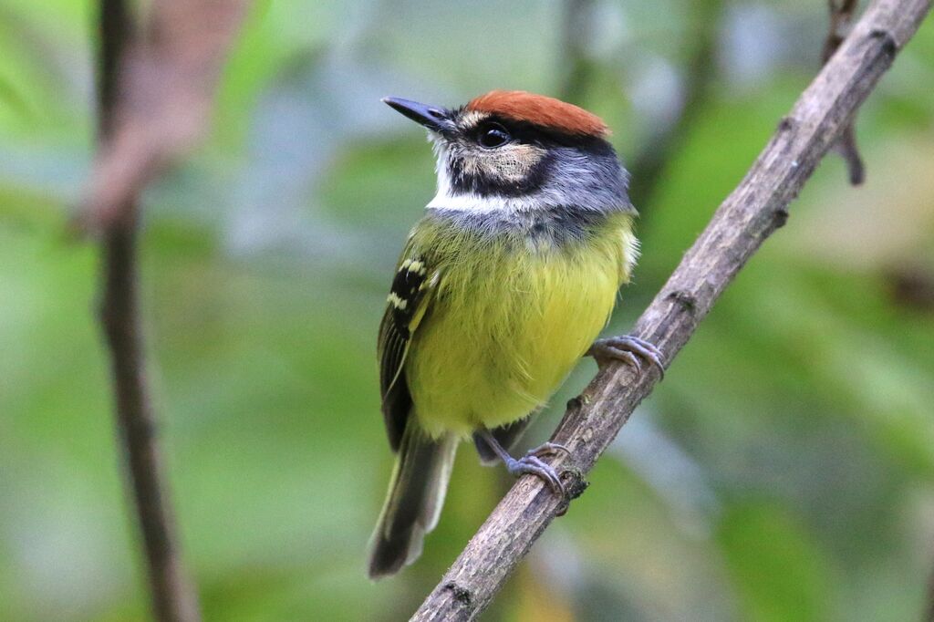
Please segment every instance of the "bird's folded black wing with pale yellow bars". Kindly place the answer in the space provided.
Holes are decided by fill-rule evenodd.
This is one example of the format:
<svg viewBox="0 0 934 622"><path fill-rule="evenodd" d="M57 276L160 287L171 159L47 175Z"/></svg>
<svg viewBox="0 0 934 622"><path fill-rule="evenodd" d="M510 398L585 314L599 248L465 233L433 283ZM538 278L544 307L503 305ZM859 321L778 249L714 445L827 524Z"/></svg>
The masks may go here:
<svg viewBox="0 0 934 622"><path fill-rule="evenodd" d="M424 306L428 304L429 276L428 266L420 259L407 259L399 264L379 327L379 386L389 445L393 451L402 442L405 422L412 408L403 363L409 339L424 315Z"/></svg>

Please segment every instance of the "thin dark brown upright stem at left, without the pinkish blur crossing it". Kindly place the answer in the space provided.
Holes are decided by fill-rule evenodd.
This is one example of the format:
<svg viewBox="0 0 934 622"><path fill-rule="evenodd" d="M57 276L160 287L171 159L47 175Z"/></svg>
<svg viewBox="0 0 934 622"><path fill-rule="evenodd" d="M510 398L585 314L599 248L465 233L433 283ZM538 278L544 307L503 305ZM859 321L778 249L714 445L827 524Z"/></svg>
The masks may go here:
<svg viewBox="0 0 934 622"><path fill-rule="evenodd" d="M132 39L132 17L123 0L101 0L98 77L98 135L113 134L120 62ZM149 401L143 328L136 287L135 198L104 233L101 322L110 348L117 425L149 568L155 618L164 622L200 619L195 589L178 555L175 518L160 455L156 416Z"/></svg>

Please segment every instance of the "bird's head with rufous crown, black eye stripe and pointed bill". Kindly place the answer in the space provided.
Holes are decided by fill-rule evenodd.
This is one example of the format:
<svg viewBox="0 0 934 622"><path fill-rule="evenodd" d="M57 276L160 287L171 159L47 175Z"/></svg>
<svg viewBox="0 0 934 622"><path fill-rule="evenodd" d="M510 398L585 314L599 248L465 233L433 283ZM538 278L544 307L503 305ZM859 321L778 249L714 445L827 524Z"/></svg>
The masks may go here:
<svg viewBox="0 0 934 622"><path fill-rule="evenodd" d="M383 101L429 130L438 159L429 207L632 209L609 129L587 110L521 91L488 92L458 108Z"/></svg>

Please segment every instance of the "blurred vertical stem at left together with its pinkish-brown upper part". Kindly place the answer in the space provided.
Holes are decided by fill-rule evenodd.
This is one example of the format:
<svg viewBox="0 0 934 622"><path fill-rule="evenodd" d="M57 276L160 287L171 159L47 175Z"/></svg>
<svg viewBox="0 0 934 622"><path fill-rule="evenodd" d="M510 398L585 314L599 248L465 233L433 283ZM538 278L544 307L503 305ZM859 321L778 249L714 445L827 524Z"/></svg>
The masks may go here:
<svg viewBox="0 0 934 622"><path fill-rule="evenodd" d="M245 6L156 0L142 36L135 36L125 0L101 0L99 6L99 149L83 224L102 233L100 318L152 608L161 622L195 622L200 614L178 552L149 400L137 288L137 201L157 164L203 131L220 64Z"/></svg>

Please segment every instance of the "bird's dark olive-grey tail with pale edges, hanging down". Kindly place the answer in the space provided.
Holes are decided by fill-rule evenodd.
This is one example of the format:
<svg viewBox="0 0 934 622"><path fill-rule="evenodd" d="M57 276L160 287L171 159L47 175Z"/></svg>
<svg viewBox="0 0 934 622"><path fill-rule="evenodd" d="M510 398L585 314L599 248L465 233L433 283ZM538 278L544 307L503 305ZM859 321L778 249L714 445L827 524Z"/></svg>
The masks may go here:
<svg viewBox="0 0 934 622"><path fill-rule="evenodd" d="M370 542L371 579L398 573L421 555L445 502L457 442L450 435L432 440L409 419Z"/></svg>

